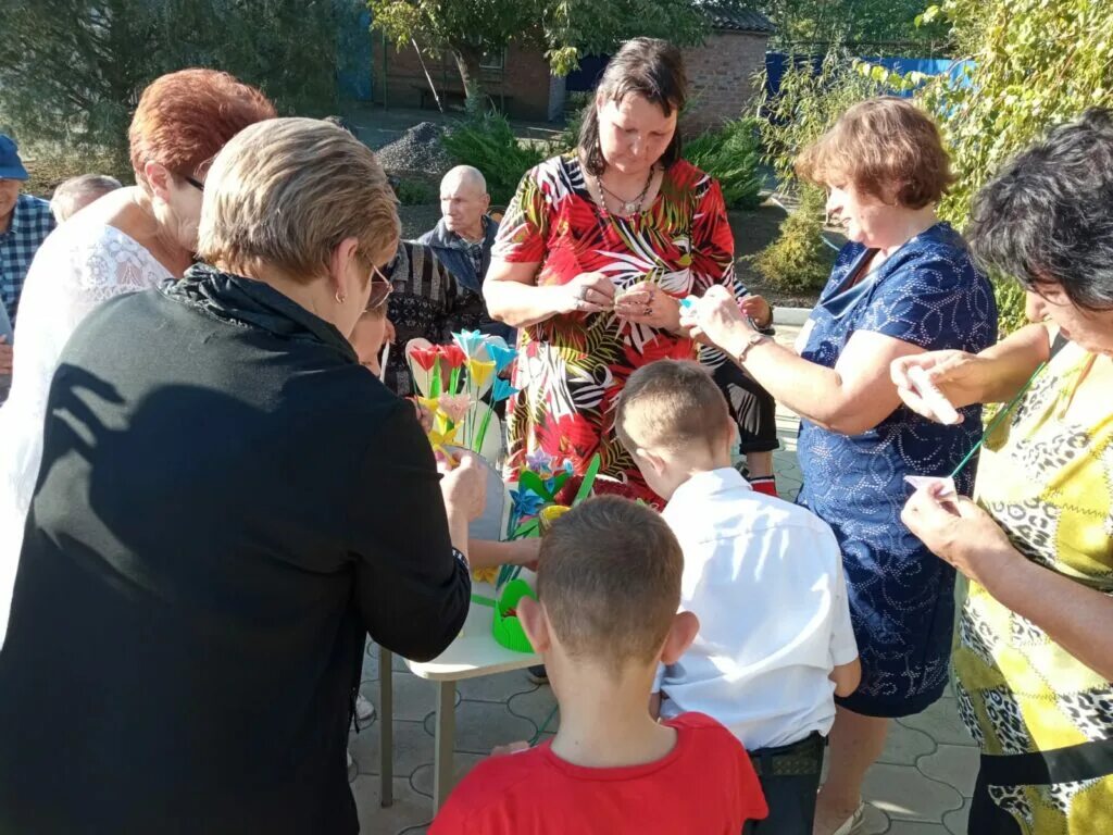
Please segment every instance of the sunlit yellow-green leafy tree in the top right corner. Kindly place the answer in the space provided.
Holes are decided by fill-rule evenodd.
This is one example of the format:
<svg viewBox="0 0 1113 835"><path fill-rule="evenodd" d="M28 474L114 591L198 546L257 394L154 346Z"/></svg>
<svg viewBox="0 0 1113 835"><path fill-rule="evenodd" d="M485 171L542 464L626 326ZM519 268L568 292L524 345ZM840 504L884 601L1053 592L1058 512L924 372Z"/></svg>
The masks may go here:
<svg viewBox="0 0 1113 835"><path fill-rule="evenodd" d="M1113 0L945 0L965 72L939 76L919 99L939 118L957 184L940 214L965 226L977 190L1050 127L1087 107L1113 107ZM994 276L1003 330L1023 322L1023 295Z"/></svg>

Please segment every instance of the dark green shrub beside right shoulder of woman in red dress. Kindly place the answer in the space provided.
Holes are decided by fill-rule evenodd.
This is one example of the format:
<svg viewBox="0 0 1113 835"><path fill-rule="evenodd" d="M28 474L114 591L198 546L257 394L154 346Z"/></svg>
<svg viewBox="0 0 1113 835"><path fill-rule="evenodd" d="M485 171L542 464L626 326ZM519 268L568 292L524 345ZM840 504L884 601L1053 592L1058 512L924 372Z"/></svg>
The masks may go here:
<svg viewBox="0 0 1113 835"><path fill-rule="evenodd" d="M719 180L727 208L761 205L758 119L736 119L719 130L700 134L684 145L684 159Z"/></svg>

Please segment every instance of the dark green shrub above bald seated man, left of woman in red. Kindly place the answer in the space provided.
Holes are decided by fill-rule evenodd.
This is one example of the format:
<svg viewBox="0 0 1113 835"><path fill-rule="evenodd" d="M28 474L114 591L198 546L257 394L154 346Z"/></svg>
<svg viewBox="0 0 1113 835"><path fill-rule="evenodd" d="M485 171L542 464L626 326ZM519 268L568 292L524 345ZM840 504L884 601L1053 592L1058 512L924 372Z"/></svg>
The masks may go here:
<svg viewBox="0 0 1113 835"><path fill-rule="evenodd" d="M510 122L496 112L462 120L443 141L453 165L471 165L483 171L496 205L508 204L522 176L544 159L540 148L519 141Z"/></svg>

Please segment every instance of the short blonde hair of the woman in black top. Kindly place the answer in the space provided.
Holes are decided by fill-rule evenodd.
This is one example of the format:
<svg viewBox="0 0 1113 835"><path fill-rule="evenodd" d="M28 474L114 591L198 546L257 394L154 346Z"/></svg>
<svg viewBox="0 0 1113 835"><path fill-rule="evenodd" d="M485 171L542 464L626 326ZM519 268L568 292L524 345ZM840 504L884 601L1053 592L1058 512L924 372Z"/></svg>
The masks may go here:
<svg viewBox="0 0 1113 835"><path fill-rule="evenodd" d="M311 282L345 238L370 272L394 257L397 200L375 155L319 119L269 119L237 134L205 183L198 254L233 271L264 263Z"/></svg>

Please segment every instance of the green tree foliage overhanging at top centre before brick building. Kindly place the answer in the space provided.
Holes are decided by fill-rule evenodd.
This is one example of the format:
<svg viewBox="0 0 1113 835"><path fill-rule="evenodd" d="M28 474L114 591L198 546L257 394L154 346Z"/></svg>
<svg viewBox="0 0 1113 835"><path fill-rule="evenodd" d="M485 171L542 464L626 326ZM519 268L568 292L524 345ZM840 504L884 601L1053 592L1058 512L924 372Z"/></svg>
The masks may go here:
<svg viewBox="0 0 1113 835"><path fill-rule="evenodd" d="M581 57L605 53L634 36L698 43L707 33L699 4L676 0L368 0L373 26L398 49L412 40L455 59L469 102L482 100L480 65L512 40L545 50L567 75Z"/></svg>

